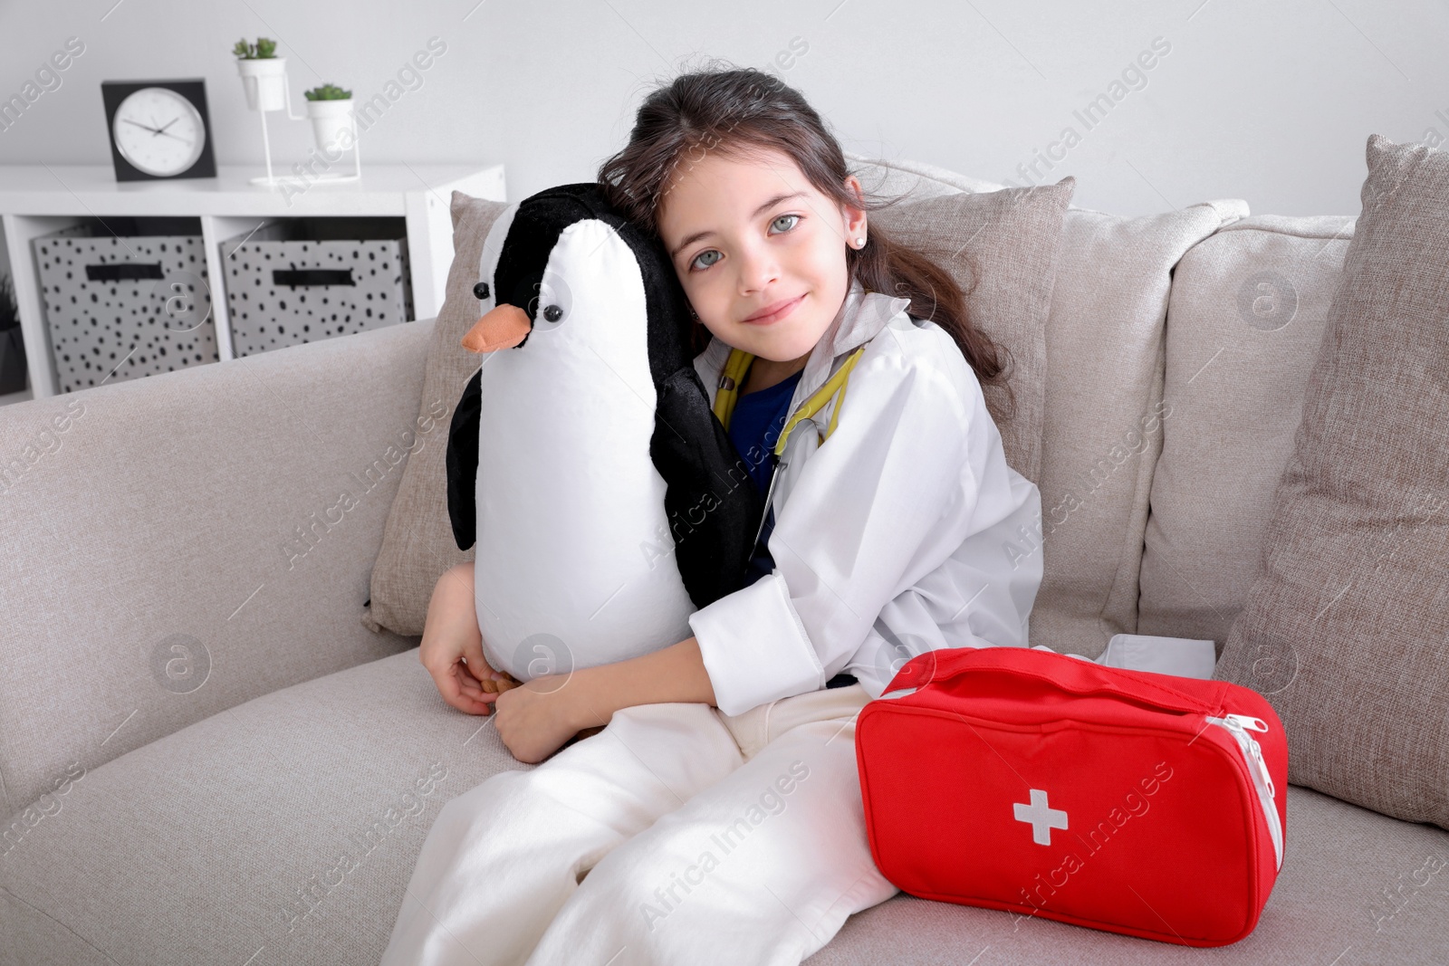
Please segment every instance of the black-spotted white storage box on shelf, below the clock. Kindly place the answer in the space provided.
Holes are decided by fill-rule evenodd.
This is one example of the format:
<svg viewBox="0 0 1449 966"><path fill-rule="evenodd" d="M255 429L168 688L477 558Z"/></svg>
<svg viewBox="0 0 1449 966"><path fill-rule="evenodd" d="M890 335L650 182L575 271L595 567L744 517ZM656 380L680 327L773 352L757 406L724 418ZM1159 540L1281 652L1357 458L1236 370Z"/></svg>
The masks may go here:
<svg viewBox="0 0 1449 966"><path fill-rule="evenodd" d="M61 392L217 361L199 222L106 219L30 246Z"/></svg>

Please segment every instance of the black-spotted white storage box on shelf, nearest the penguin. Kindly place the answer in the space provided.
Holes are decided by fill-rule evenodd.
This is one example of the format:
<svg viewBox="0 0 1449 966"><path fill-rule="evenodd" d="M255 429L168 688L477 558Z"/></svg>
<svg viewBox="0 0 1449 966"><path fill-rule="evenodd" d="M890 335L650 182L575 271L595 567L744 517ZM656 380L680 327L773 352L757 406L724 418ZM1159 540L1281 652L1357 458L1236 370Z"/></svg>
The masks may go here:
<svg viewBox="0 0 1449 966"><path fill-rule="evenodd" d="M222 242L233 352L410 320L403 230L387 220L296 219Z"/></svg>

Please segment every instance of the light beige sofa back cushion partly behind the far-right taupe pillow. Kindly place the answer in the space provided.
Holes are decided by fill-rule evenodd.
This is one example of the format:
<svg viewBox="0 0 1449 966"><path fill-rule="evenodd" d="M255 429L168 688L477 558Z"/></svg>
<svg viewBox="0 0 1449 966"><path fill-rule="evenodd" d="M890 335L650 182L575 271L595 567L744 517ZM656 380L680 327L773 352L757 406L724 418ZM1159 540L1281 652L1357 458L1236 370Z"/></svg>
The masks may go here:
<svg viewBox="0 0 1449 966"><path fill-rule="evenodd" d="M1137 633L1214 640L1222 652L1256 576L1352 238L1352 216L1262 214L1178 262Z"/></svg>

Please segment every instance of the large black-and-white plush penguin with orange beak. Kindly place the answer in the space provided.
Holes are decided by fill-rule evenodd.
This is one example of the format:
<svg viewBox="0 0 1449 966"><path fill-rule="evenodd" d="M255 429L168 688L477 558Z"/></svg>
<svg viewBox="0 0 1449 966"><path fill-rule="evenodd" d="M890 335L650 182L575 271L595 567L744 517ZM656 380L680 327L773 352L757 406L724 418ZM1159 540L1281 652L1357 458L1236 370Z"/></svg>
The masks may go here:
<svg viewBox="0 0 1449 966"><path fill-rule="evenodd" d="M581 182L504 211L481 261L462 343L485 355L446 462L484 656L522 682L688 639L694 610L743 585L764 504L662 243Z"/></svg>

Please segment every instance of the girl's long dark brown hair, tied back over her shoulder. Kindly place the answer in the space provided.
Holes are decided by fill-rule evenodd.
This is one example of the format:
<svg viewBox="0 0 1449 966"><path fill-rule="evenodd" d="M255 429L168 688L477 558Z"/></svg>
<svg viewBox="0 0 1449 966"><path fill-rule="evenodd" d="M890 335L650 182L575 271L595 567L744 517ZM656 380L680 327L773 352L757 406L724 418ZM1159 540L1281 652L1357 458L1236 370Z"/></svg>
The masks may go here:
<svg viewBox="0 0 1449 966"><path fill-rule="evenodd" d="M629 143L600 165L598 182L625 217L658 235L659 204L675 168L697 164L710 151L742 156L761 148L793 158L816 190L840 204L874 211L903 197L878 196L862 185L858 198L845 184L852 174L845 154L820 114L797 90L752 67L681 74L649 93ZM909 297L911 316L949 332L982 390L1006 390L1007 414L1014 410L1003 361L1009 353L971 323L965 293L951 272L882 230L878 220L871 222L865 246L848 245L845 258L849 278L867 291ZM694 335L698 353L710 333L696 322Z"/></svg>

